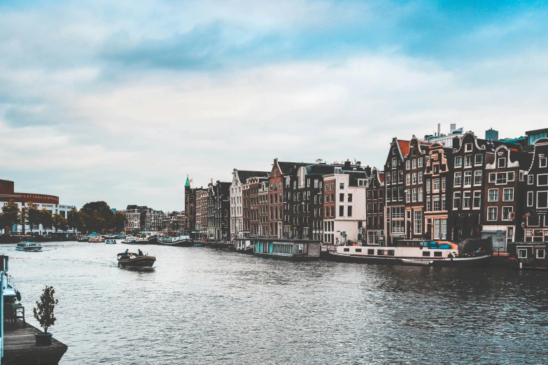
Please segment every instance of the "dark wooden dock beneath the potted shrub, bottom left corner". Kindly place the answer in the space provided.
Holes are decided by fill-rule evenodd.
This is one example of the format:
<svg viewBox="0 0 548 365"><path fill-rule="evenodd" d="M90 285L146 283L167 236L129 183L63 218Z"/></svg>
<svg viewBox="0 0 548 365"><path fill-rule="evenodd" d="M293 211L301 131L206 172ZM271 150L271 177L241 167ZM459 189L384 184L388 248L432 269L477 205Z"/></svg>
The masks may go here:
<svg viewBox="0 0 548 365"><path fill-rule="evenodd" d="M58 364L68 348L55 338L51 346L36 346L34 334L41 332L27 323L17 321L15 326L4 324L4 343L2 365L50 365Z"/></svg>

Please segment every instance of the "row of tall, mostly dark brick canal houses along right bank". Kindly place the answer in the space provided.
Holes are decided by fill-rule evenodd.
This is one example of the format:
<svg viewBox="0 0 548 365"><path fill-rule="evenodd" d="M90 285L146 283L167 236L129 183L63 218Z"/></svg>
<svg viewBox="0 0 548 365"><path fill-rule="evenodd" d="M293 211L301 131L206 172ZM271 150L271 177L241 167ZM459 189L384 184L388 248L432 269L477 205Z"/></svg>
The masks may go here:
<svg viewBox="0 0 548 365"><path fill-rule="evenodd" d="M509 242L548 241L548 129L526 135L393 138L381 167L274 159L269 171L234 169L231 182L187 182L186 228L204 241L390 245L491 236L502 251Z"/></svg>

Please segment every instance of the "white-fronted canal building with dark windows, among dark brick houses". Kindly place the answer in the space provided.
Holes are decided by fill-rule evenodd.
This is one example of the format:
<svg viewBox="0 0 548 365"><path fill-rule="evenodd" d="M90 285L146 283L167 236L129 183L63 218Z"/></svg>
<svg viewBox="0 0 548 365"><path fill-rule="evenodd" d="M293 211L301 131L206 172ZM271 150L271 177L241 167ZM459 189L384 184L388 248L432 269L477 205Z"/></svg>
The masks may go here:
<svg viewBox="0 0 548 365"><path fill-rule="evenodd" d="M323 177L323 242L358 241L358 234L367 222L366 185L365 171L342 171Z"/></svg>

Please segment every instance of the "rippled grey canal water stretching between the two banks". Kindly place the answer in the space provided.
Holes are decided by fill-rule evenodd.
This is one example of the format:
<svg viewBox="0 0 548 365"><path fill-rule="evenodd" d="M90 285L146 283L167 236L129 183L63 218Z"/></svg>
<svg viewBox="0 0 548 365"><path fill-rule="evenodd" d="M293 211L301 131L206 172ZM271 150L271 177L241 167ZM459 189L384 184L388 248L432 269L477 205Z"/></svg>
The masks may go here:
<svg viewBox="0 0 548 365"><path fill-rule="evenodd" d="M210 248L44 243L10 255L62 364L546 364L547 272L295 263ZM157 257L120 269L129 248Z"/></svg>

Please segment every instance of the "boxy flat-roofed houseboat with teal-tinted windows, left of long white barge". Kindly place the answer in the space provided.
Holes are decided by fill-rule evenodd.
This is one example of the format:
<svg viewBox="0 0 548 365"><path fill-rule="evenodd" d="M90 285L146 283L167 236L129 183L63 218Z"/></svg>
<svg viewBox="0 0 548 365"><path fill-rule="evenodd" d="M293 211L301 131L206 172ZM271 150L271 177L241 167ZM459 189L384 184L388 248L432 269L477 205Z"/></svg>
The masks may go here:
<svg viewBox="0 0 548 365"><path fill-rule="evenodd" d="M295 261L320 259L320 241L253 238L253 255Z"/></svg>

